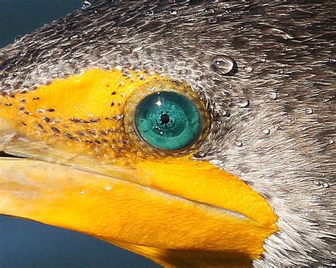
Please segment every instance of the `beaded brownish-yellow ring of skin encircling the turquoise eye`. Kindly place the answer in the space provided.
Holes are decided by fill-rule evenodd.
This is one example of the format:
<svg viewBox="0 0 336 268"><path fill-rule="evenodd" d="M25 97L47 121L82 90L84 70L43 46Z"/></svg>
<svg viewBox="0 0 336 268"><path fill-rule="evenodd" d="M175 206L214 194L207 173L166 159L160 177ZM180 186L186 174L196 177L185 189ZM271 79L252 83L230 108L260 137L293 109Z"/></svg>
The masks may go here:
<svg viewBox="0 0 336 268"><path fill-rule="evenodd" d="M191 100L194 103L194 105L196 105L196 107L198 108L198 111L202 118L201 134L198 137L198 139L190 146L178 150L164 150L162 148L155 148L147 144L147 142L141 139L141 137L137 133L135 127L136 108L138 107L141 100L146 98L148 95L152 95L153 93L158 93L162 91L184 95L184 97ZM181 154L196 151L196 149L201 145L201 142L208 135L208 130L210 128L210 115L209 112L206 110L206 105L200 100L200 96L194 91L192 91L191 87L186 83L161 80L161 81L152 81L146 83L145 85L140 86L128 98L127 103L125 105L124 115L125 115L124 117L125 130L126 132L128 132L130 140L133 141L134 145L138 146L141 150L144 150L147 153L154 153L156 155L158 154L158 155L180 156Z"/></svg>

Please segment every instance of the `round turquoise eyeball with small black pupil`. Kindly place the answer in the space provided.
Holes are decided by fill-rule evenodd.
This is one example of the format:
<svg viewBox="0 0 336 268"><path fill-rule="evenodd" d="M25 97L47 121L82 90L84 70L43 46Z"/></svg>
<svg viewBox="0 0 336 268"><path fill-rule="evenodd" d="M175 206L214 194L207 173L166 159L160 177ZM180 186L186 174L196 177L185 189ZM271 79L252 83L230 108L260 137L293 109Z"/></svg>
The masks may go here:
<svg viewBox="0 0 336 268"><path fill-rule="evenodd" d="M141 100L135 110L135 127L148 144L163 150L179 150L200 135L201 115L189 98L163 91Z"/></svg>

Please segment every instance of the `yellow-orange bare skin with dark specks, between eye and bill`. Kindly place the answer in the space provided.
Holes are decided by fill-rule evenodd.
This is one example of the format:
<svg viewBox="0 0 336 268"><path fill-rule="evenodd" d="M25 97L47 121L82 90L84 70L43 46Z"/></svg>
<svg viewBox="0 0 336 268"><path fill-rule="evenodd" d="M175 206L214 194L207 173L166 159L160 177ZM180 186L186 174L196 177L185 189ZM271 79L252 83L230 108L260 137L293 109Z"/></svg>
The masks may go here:
<svg viewBox="0 0 336 268"><path fill-rule="evenodd" d="M62 142L95 157L120 158L141 153L124 131L123 110L130 94L153 80L164 78L95 69L35 91L0 97L0 116L14 117L18 131L27 136Z"/></svg>

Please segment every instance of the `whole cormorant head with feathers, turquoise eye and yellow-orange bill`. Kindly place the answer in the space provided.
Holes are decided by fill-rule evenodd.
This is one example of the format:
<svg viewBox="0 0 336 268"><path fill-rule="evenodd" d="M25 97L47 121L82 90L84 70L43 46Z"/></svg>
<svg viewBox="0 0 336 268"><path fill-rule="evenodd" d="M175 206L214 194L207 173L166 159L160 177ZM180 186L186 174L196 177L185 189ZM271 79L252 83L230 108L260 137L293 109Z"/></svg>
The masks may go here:
<svg viewBox="0 0 336 268"><path fill-rule="evenodd" d="M1 49L0 213L164 265L331 264L332 8L306 8L97 1Z"/></svg>

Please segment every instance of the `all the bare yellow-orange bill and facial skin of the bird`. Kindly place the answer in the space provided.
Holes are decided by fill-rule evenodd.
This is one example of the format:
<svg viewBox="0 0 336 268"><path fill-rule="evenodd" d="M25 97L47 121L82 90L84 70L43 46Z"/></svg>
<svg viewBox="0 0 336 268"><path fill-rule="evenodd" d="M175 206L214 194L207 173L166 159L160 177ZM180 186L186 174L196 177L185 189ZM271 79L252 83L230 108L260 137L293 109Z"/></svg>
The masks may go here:
<svg viewBox="0 0 336 268"><path fill-rule="evenodd" d="M139 77L91 70L0 96L0 151L25 157L0 158L0 214L93 235L167 267L249 266L277 231L264 197L192 153L103 146L127 135L120 120L101 119L121 115L139 86L168 81ZM93 142L79 139L88 131Z"/></svg>

